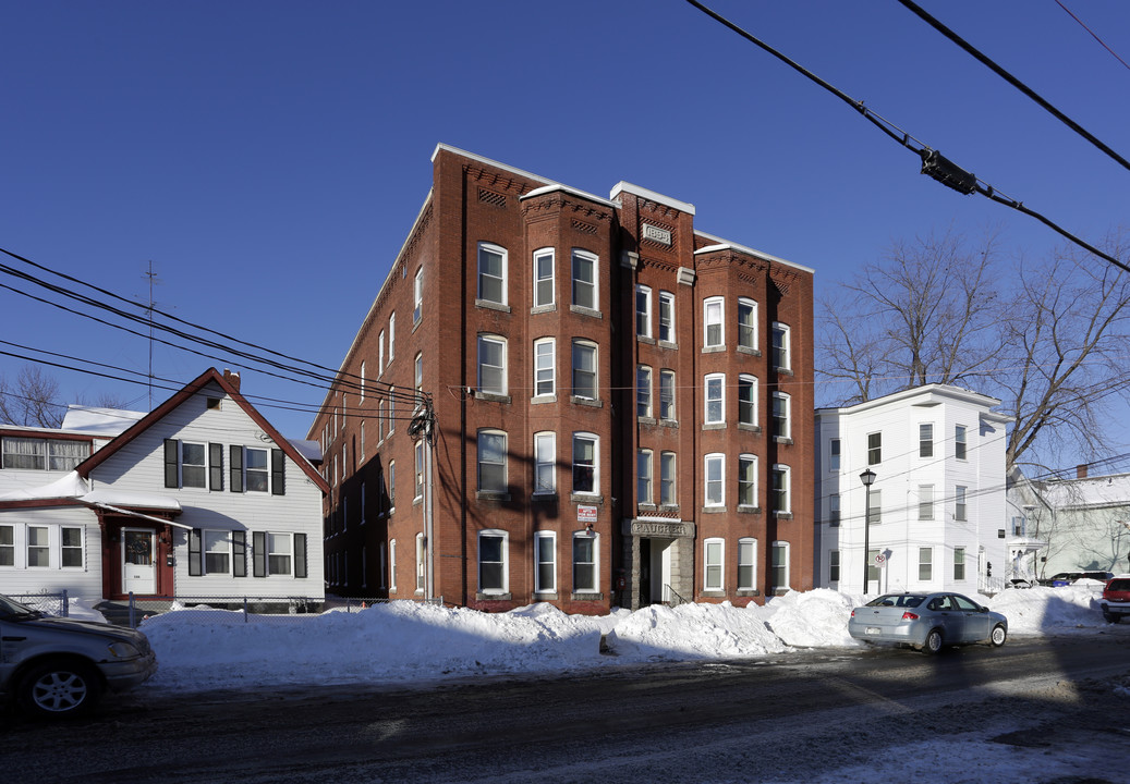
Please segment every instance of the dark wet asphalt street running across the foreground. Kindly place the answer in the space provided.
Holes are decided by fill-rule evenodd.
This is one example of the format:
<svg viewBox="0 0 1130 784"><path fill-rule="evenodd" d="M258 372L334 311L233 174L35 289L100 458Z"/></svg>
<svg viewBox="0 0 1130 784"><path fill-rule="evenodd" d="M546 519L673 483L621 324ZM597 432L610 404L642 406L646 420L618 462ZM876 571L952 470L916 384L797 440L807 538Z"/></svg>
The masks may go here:
<svg viewBox="0 0 1130 784"><path fill-rule="evenodd" d="M1092 781L1130 781L1130 698L1111 681L1130 678L1130 627L1112 629L937 656L794 653L410 690L142 687L75 722L8 709L0 779L812 782L907 738L973 730L1050 755L1089 744L1103 755Z"/></svg>

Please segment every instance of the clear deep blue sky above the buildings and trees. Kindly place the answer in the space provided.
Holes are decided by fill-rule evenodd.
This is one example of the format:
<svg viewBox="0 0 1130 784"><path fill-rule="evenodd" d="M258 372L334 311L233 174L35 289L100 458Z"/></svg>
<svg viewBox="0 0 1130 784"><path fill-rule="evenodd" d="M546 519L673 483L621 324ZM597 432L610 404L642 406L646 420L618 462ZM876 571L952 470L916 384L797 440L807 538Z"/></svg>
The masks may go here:
<svg viewBox="0 0 1130 784"><path fill-rule="evenodd" d="M1130 61L1130 3L1063 3ZM707 5L1074 233L1128 223L1130 172L895 0ZM1055 0L920 5L1130 157L1130 69ZM0 56L0 247L138 303L153 262L157 307L330 367L437 142L600 195L624 180L688 201L698 229L815 269L818 295L899 238L993 227L1028 256L1063 242L920 175L914 154L684 0L3 0ZM149 361L146 340L7 289L0 339ZM0 356L0 373L21 364ZM177 382L209 365L241 367L155 349L154 373ZM52 373L68 398L148 407L144 386ZM305 434L323 390L243 377Z"/></svg>

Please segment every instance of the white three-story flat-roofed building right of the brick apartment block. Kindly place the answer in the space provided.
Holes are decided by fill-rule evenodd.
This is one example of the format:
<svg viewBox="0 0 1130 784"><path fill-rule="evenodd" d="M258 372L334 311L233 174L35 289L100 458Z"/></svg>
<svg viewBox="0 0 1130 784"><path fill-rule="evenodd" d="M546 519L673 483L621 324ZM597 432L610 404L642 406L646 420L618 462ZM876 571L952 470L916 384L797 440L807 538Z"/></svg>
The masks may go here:
<svg viewBox="0 0 1130 784"><path fill-rule="evenodd" d="M816 584L863 593L866 568L867 593L1003 587L1008 420L993 413L999 403L930 384L818 409Z"/></svg>

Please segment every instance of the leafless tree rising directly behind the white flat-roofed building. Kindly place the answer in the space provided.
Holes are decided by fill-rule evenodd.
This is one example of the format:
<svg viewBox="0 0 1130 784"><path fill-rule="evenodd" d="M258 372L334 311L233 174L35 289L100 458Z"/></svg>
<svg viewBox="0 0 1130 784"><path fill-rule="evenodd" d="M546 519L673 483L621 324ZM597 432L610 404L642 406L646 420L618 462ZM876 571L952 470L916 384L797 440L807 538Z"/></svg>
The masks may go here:
<svg viewBox="0 0 1130 784"><path fill-rule="evenodd" d="M896 243L867 264L824 303L817 372L829 397L851 404L992 367L997 265L993 236L970 249L951 234Z"/></svg>

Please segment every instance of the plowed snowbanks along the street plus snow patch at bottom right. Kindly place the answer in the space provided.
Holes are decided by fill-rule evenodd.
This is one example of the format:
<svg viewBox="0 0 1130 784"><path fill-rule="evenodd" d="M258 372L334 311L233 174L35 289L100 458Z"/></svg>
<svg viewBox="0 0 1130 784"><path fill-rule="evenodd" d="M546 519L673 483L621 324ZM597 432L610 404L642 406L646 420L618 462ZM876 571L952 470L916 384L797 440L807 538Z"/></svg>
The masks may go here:
<svg viewBox="0 0 1130 784"><path fill-rule="evenodd" d="M1010 636L1086 637L1110 628L1095 602L1099 592L1101 584L1094 583L973 598L1008 618ZM351 612L252 617L250 621L240 612L190 608L147 618L141 629L160 662L149 683L158 690L358 682L423 687L475 674L567 673L625 663L861 647L847 634L851 609L861 603L858 595L815 590L772 599L765 607L657 606L588 617L565 615L549 604L484 613L395 601ZM1111 689L1127 697L1130 707L1125 683L1123 679ZM949 735L939 741L933 755L921 742L906 755L890 751L895 753L886 755L881 765L887 781L931 776L939 759L955 756L965 770L975 772L951 779L964 782L1080 775L1094 759L1086 750L1078 758L1050 758L1037 748L1002 751L999 743L976 733ZM1110 764L1110 748L1094 751ZM808 781L869 781L876 773L871 764Z"/></svg>

